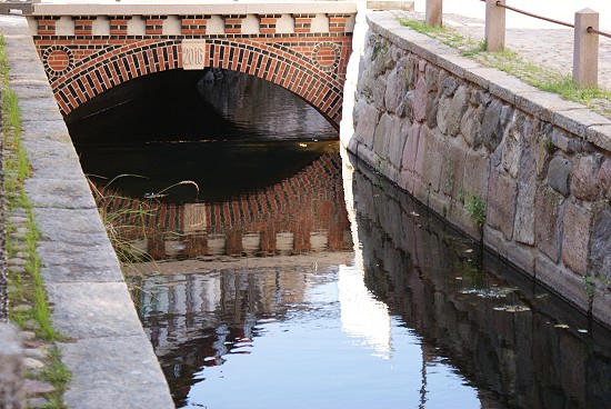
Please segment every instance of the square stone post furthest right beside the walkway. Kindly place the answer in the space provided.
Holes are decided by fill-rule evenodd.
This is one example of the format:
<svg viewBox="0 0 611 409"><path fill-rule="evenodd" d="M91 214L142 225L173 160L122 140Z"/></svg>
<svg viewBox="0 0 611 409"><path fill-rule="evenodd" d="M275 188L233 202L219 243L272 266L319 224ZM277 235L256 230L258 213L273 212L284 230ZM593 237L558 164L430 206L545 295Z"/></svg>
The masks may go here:
<svg viewBox="0 0 611 409"><path fill-rule="evenodd" d="M583 9L575 12L573 43L573 81L578 87L597 87L599 76L599 13Z"/></svg>

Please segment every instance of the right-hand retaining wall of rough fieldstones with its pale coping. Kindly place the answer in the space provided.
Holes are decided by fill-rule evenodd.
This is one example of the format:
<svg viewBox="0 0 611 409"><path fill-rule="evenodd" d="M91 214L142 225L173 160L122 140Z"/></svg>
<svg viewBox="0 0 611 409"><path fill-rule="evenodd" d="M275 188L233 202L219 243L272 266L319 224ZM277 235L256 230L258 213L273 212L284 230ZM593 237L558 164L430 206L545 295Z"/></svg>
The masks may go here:
<svg viewBox="0 0 611 409"><path fill-rule="evenodd" d="M611 325L611 121L392 13L368 22L348 149Z"/></svg>

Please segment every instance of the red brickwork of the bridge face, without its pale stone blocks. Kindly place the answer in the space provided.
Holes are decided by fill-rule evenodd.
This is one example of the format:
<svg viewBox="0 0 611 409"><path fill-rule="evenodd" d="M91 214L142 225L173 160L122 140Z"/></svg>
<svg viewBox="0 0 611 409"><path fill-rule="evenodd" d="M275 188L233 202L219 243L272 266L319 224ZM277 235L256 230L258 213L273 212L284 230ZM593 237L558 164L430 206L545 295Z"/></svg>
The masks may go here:
<svg viewBox="0 0 611 409"><path fill-rule="evenodd" d="M278 16L259 16L266 31L259 34L240 33L238 20L243 16L227 16L226 34L206 34L206 18L184 16L182 34L164 36L163 16L147 16L146 34L128 36L130 17L113 16L110 36L91 36L87 32L92 19L77 17L77 36L57 36L57 19L41 17L33 39L63 114L122 82L182 68L182 39L198 38L207 41L206 67L277 83L339 124L352 40L352 33L343 31L344 16L330 17L331 33L288 34L273 32ZM297 26L296 20L296 31Z"/></svg>

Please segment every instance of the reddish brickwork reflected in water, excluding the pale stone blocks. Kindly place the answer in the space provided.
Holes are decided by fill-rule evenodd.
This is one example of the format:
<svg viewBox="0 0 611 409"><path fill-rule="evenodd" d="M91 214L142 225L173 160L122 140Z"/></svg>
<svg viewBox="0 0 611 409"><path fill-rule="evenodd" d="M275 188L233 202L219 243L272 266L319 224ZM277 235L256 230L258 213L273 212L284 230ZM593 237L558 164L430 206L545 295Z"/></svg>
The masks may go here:
<svg viewBox="0 0 611 409"><path fill-rule="evenodd" d="M137 235L142 233L144 227L148 252L156 258L164 257L166 236L183 241L184 256L207 255L209 235L223 236L229 250L241 252L241 239L248 232L261 235L261 250L268 253L277 250L276 235L287 231L294 235L293 249L298 252L309 251L310 235L320 230L328 232L329 250L347 250L344 232L349 230L349 222L343 202L341 159L337 153L321 156L297 174L267 189L240 199L203 205L198 209L198 219L202 221L199 231L187 231L189 221L186 219L190 218L183 205L162 202L148 207L140 200L107 196L98 206L107 212L124 215L127 219L120 225L139 226L134 230ZM147 210L143 218L136 211L141 208ZM126 212L126 209L134 211Z"/></svg>

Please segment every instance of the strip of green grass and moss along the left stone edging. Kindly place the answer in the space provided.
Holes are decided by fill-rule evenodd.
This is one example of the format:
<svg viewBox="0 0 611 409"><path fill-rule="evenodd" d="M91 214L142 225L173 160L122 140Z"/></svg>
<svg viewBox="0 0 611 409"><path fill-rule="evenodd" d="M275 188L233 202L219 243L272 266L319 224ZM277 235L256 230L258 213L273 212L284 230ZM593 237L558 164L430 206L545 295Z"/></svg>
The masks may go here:
<svg viewBox="0 0 611 409"><path fill-rule="evenodd" d="M31 203L23 190L23 182L31 174L26 149L21 146L21 112L18 98L10 89L9 63L4 49L4 40L0 37L0 87L2 89L2 143L3 143L3 170L4 194L10 210L21 209L26 217L24 226L19 228L7 223L7 255L9 258L20 252L24 266L8 268L7 276L11 291L9 302L11 306L31 308L11 308L9 318L21 328L30 322L37 336L48 342L60 339L59 332L51 323L51 309L47 300L47 293L40 275L40 259L37 253L40 233L33 220ZM50 381L56 390L46 393L49 409L66 408L63 391L70 380L70 372L61 363L59 349L53 347L49 351L47 366L40 372L28 373L29 378Z"/></svg>

